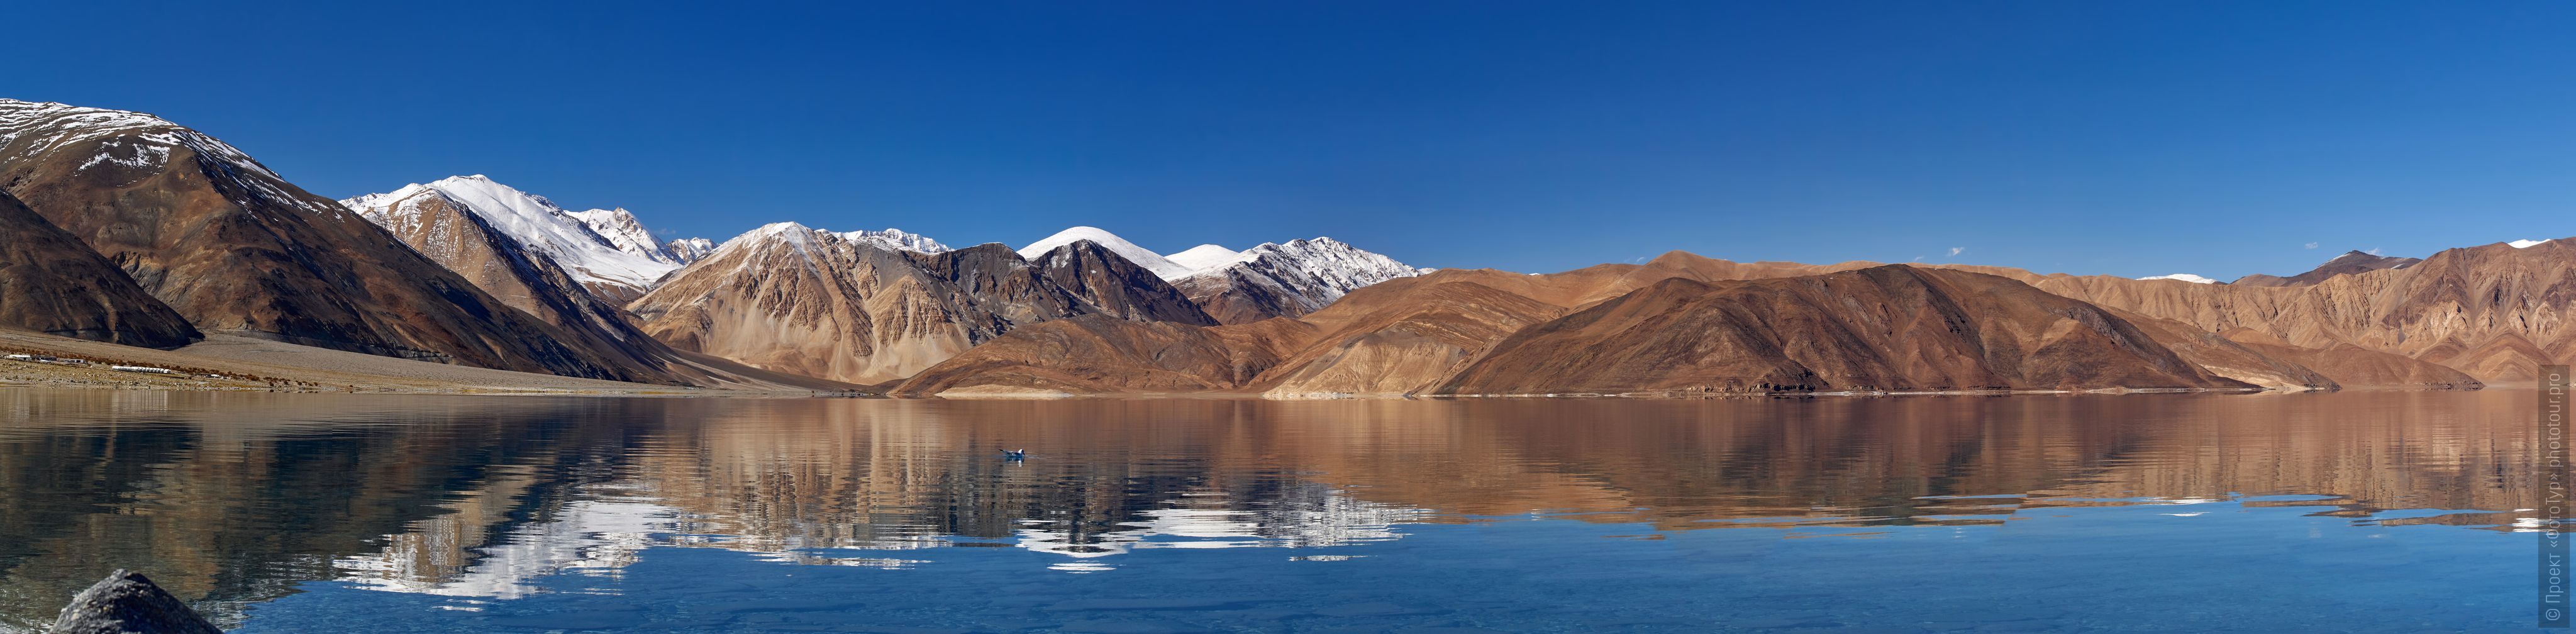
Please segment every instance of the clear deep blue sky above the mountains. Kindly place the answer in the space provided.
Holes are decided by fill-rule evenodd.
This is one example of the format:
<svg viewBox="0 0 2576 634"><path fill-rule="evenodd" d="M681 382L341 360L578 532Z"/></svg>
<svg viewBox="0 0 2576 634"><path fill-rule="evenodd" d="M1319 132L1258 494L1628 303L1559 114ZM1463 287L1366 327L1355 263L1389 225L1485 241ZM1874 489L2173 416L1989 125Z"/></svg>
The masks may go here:
<svg viewBox="0 0 2576 634"><path fill-rule="evenodd" d="M0 95L680 237L2233 278L2576 235L2576 3L721 5L21 3Z"/></svg>

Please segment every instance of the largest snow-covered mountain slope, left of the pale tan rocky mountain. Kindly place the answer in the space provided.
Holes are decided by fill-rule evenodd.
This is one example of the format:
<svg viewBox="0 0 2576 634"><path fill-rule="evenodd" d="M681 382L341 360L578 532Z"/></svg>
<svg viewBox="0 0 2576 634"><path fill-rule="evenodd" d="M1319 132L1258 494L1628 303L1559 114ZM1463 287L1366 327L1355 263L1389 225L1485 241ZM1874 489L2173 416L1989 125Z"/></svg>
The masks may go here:
<svg viewBox="0 0 2576 634"><path fill-rule="evenodd" d="M631 227L618 227L616 211L592 214L611 227L618 240L603 237L590 222L554 206L544 196L526 193L484 175L453 175L435 183L412 183L392 193L368 193L340 201L355 209L368 222L397 229L404 242L420 250L453 253L456 245L440 245L451 235L407 235L404 229L438 227L435 222L422 222L422 214L438 209L464 209L477 216L479 224L507 235L518 245L544 253L554 265L572 273L572 281L582 283L592 294L611 299L641 296L662 273L680 268L677 258L665 253L641 250L652 245L649 235L641 235L641 224L634 216L623 216ZM641 237L639 237L641 235Z"/></svg>

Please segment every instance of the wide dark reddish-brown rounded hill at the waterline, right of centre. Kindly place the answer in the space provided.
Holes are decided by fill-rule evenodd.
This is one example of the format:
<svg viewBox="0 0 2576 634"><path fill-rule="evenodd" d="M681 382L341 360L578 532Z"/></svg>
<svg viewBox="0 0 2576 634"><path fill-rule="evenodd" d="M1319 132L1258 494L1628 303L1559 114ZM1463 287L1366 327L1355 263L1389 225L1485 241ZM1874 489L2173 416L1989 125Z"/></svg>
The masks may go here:
<svg viewBox="0 0 2576 634"><path fill-rule="evenodd" d="M2249 387L2027 283L1911 265L1667 278L1494 343L1440 394Z"/></svg>

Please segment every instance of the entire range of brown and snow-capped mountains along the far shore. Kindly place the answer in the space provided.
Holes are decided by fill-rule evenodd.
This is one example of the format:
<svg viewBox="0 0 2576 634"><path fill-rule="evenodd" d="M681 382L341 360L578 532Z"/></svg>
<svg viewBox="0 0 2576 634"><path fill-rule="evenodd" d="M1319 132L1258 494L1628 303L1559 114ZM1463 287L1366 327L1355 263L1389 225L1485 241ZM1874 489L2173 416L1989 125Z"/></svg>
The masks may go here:
<svg viewBox="0 0 2576 634"><path fill-rule="evenodd" d="M0 101L0 237L10 330L904 397L2478 387L2576 351L2550 240L2233 283L1690 253L1525 276L1095 227L657 240L484 175L330 201L155 116L26 101Z"/></svg>

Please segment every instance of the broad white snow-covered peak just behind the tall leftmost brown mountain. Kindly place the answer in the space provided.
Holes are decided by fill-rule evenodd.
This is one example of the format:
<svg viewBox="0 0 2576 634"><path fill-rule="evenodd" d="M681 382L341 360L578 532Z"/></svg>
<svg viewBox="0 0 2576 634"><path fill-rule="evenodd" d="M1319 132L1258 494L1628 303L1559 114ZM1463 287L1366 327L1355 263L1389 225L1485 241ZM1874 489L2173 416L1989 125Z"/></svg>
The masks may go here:
<svg viewBox="0 0 2576 634"><path fill-rule="evenodd" d="M652 289L662 273L680 268L680 263L670 258L626 253L613 245L611 237L590 229L585 219L564 211L554 201L546 201L546 196L495 183L487 175L451 175L435 183L412 183L392 193L345 198L340 204L358 209L358 214L368 222L399 227L420 214L417 201L425 193L435 193L471 211L477 219L510 240L518 240L523 247L554 258L556 265L582 283L641 291Z"/></svg>

